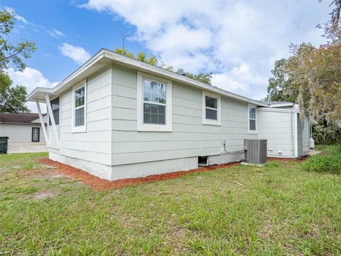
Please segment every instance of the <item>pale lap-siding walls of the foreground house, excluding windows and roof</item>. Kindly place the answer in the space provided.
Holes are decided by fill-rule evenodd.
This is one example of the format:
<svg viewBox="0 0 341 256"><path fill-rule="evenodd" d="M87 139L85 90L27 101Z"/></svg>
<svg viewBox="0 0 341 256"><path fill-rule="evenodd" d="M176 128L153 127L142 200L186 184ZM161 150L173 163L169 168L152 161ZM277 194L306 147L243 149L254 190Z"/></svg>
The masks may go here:
<svg viewBox="0 0 341 256"><path fill-rule="evenodd" d="M117 65L87 78L86 132L72 132L73 90L60 95L60 139L48 127L50 158L114 180L194 169L198 156L208 156L210 164L239 161L244 139L268 139L269 156L292 156L296 133L288 110L258 110L251 133L248 103L221 96L221 125L202 124L202 90L175 81L172 132L139 132L137 81L136 70ZM226 151L242 153L222 154L223 142Z"/></svg>

